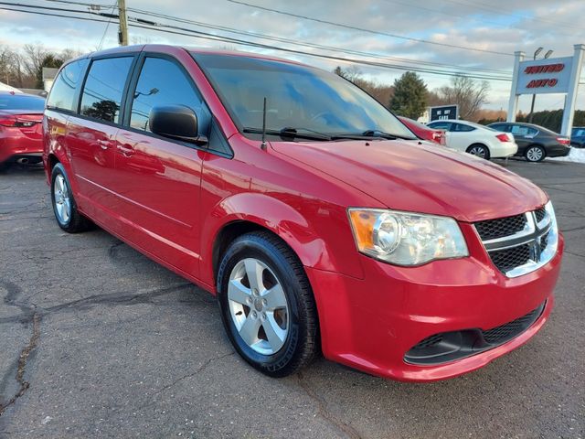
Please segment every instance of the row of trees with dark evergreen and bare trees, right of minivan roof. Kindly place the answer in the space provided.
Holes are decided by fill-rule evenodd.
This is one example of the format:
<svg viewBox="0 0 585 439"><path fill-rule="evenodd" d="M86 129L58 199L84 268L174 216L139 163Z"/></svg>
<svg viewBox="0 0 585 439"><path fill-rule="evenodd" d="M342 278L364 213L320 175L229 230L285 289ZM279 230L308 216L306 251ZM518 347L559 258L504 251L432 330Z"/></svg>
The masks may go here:
<svg viewBox="0 0 585 439"><path fill-rule="evenodd" d="M448 85L430 91L424 80L412 71L403 73L391 86L366 80L356 67L342 69L338 66L334 72L393 112L415 120L429 106L457 104L462 119L476 121L481 116L482 106L487 103L490 90L487 81L465 76L454 76Z"/></svg>

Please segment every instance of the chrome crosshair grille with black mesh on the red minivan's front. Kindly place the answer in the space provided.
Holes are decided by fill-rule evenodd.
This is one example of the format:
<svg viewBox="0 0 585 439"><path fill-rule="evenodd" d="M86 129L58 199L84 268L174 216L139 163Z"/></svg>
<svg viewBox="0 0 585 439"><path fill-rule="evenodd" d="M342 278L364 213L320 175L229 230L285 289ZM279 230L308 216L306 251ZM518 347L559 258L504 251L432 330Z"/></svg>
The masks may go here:
<svg viewBox="0 0 585 439"><path fill-rule="evenodd" d="M557 252L558 230L552 206L473 225L495 267L507 277L533 272Z"/></svg>

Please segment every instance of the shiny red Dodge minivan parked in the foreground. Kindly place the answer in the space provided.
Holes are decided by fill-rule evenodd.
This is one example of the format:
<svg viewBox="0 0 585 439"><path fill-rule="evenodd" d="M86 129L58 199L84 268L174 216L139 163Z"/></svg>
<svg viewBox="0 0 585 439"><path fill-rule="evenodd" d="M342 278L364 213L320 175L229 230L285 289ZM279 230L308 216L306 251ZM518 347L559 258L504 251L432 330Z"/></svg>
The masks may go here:
<svg viewBox="0 0 585 439"><path fill-rule="evenodd" d="M229 339L282 377L318 352L441 380L548 319L548 196L420 142L334 74L158 45L66 64L44 119L58 225L90 221L217 294Z"/></svg>

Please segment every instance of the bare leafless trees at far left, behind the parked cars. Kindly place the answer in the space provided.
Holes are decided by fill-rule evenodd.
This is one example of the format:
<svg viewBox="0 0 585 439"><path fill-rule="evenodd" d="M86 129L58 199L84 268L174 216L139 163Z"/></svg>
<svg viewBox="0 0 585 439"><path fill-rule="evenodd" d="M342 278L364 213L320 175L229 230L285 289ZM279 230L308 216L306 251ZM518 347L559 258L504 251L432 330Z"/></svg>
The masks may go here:
<svg viewBox="0 0 585 439"><path fill-rule="evenodd" d="M60 52L41 44L26 44L20 50L0 45L0 81L18 89L42 89L43 68L59 68L81 52L66 48Z"/></svg>

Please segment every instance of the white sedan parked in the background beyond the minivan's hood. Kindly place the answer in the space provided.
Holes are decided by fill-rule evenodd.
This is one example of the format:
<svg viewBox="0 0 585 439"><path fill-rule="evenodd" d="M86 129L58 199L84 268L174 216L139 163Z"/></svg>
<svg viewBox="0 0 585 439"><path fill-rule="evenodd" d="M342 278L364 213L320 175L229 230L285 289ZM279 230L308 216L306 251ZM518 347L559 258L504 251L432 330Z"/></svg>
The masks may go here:
<svg viewBox="0 0 585 439"><path fill-rule="evenodd" d="M448 147L485 159L509 157L518 150L512 134L496 131L479 123L445 120L433 121L427 126L433 130L445 130Z"/></svg>

